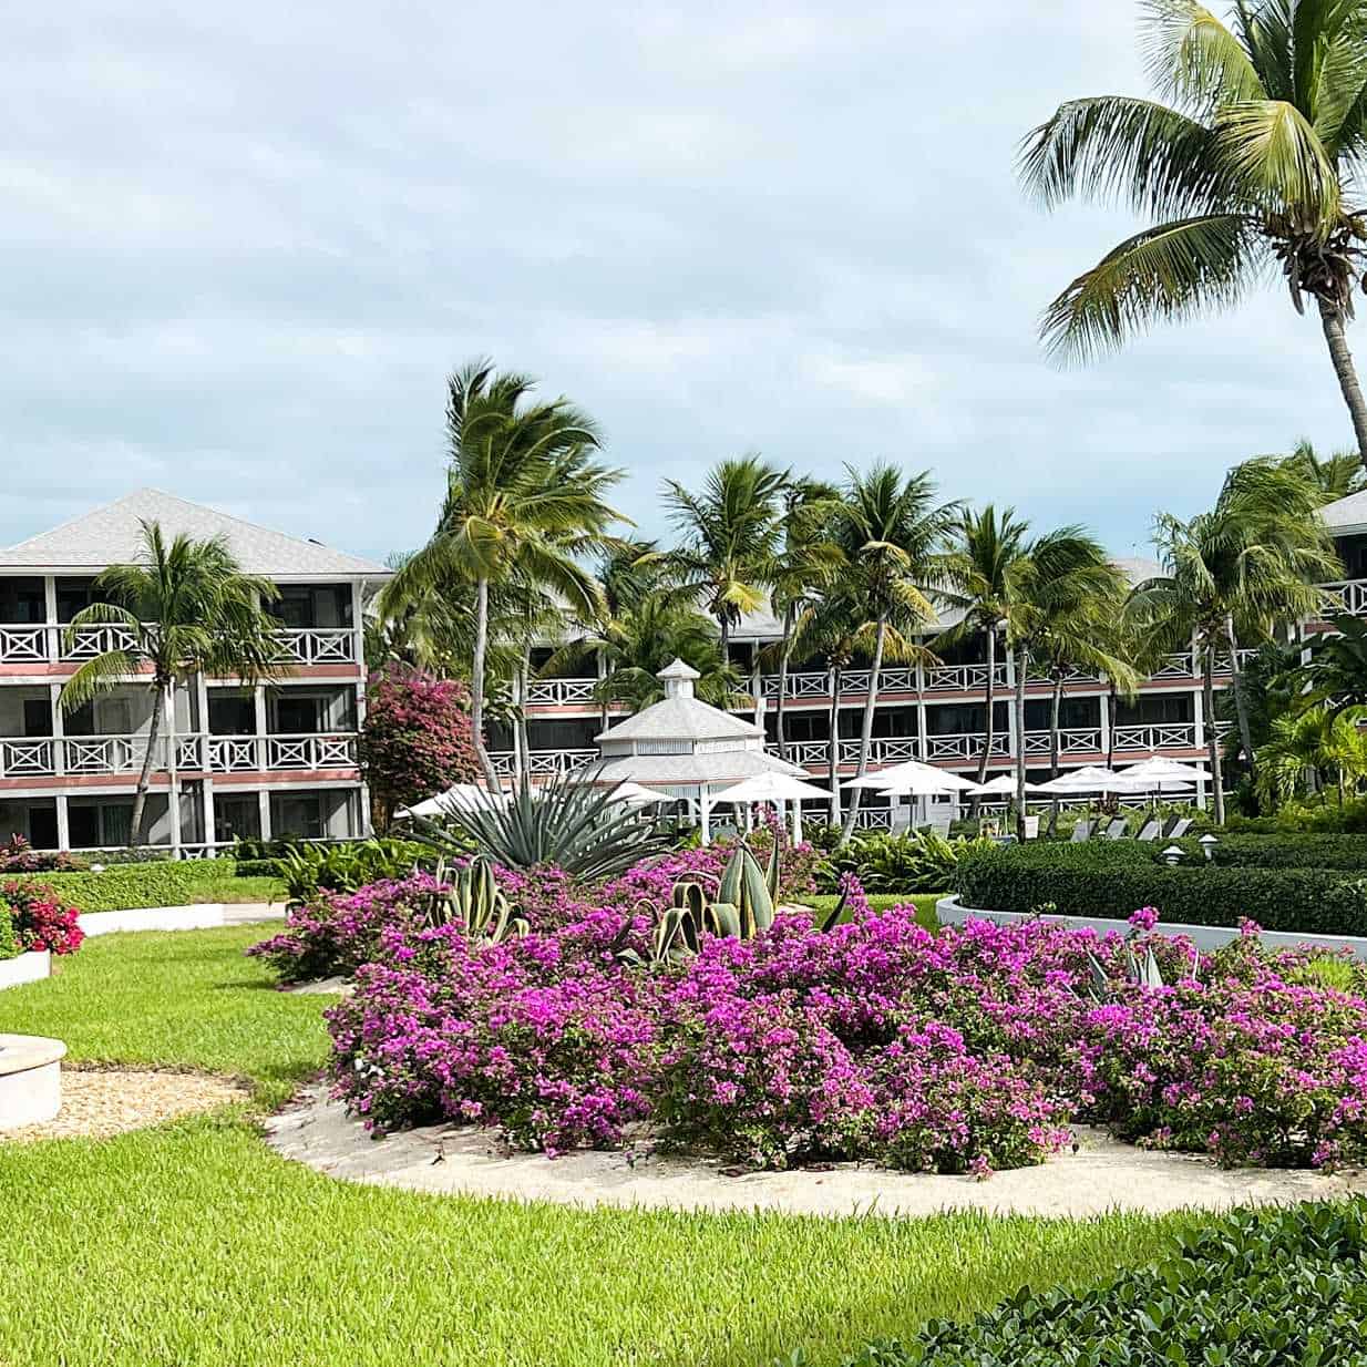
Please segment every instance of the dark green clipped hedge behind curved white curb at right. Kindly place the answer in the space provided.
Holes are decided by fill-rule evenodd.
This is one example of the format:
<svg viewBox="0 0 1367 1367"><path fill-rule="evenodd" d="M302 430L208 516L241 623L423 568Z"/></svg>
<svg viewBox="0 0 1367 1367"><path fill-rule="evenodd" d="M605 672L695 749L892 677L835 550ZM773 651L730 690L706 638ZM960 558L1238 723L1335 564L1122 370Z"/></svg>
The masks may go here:
<svg viewBox="0 0 1367 1367"><path fill-rule="evenodd" d="M1270 931L1367 935L1367 879L1326 868L1169 868L1143 845L1028 843L966 852L954 872L965 906L1126 919L1156 906L1166 921Z"/></svg>

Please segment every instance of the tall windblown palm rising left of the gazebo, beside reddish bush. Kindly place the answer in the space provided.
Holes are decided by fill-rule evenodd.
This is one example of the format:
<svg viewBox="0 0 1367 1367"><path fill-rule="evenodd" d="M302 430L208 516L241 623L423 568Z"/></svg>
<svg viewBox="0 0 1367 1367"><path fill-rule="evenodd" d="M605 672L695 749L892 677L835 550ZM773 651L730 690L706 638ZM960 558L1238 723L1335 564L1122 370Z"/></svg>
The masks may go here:
<svg viewBox="0 0 1367 1367"><path fill-rule="evenodd" d="M599 612L599 588L581 565L623 521L606 502L621 472L592 459L592 420L566 399L532 402L526 376L495 375L487 361L448 381L447 493L427 545L380 595L381 615L402 612L451 581L474 586L470 722L485 782L498 775L484 742L489 592L514 577L556 595L585 621Z"/></svg>

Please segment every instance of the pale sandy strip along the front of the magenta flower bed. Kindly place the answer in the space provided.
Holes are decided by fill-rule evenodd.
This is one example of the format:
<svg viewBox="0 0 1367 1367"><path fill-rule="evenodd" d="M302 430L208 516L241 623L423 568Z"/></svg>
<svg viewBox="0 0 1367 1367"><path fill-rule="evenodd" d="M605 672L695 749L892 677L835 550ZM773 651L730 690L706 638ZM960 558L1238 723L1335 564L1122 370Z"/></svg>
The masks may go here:
<svg viewBox="0 0 1367 1367"><path fill-rule="evenodd" d="M548 1159L500 1152L488 1131L433 1125L372 1140L321 1088L268 1121L286 1158L355 1182L567 1206L772 1210L805 1215L931 1215L943 1210L1057 1217L1122 1207L1150 1213L1323 1200L1367 1191L1367 1174L1223 1172L1204 1158L1151 1154L1080 1131L1077 1154L988 1181L839 1165L830 1172L742 1173L647 1151Z"/></svg>

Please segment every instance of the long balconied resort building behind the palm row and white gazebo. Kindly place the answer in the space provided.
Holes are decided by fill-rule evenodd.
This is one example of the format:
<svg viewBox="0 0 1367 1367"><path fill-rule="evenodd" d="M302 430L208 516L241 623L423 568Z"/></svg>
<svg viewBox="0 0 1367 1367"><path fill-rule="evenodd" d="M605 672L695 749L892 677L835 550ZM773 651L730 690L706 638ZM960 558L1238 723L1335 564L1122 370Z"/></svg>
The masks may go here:
<svg viewBox="0 0 1367 1367"><path fill-rule="evenodd" d="M1323 515L1349 576L1323 585L1323 617L1367 615L1367 493L1333 503ZM1117 563L1132 584L1159 573L1151 560L1121 559ZM938 623L935 630L945 625L949 622ZM1323 619L1297 627L1303 633L1323 629ZM932 634L934 630L927 632L927 638ZM753 705L742 715L764 729L774 750L779 677L776 667L766 664L766 648L781 638L782 623L767 614L745 618L731 633L731 658L748 674L753 696ZM536 659L544 662L550 653L545 649ZM988 778L1009 772L1024 748L1031 781L1047 779L1055 681L1043 671L1031 674L1025 686L1025 729L1024 734L1017 734L1010 705L1016 675L1002 653L998 649L992 670L994 735ZM1241 660L1251 653L1241 651ZM936 666L882 670L871 767L923 760L965 775L976 774L986 740L987 674L983 640L957 655L942 655ZM1226 689L1229 681L1226 659L1217 668L1217 689ZM577 768L597 759L595 737L603 730L604 718L595 700L596 682L588 677L540 678L530 685L524 705L533 774ZM813 779L828 783L833 768L841 776L854 774L868 688L867 668L850 668L837 678L819 660L793 662L783 700L787 757ZM608 712L621 716L626 715L626 708L610 708ZM1061 770L1087 764L1124 767L1155 756L1199 761L1206 753L1208 729L1215 726L1223 734L1232 725L1204 715L1200 660L1195 651L1170 655L1131 700L1117 696L1099 674L1068 671L1062 679L1061 723ZM515 772L518 757L511 748L513 737L496 733L492 740L498 746L496 767L506 774ZM503 741L507 744L500 744ZM861 807L861 824L891 823L883 798L865 793Z"/></svg>

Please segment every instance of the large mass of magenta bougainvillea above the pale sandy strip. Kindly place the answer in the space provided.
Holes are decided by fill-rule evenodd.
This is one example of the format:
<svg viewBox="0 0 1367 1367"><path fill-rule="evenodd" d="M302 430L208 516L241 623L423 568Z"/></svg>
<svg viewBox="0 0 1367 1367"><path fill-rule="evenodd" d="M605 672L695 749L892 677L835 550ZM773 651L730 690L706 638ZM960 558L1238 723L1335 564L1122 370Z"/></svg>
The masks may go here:
<svg viewBox="0 0 1367 1367"><path fill-rule="evenodd" d="M703 853L670 875L708 872ZM1330 961L1251 934L1197 958L1152 934L1150 909L1128 938L1047 921L932 935L912 906L869 915L854 880L856 916L830 932L781 915L652 973L623 950L647 950L663 876L633 869L591 898L548 879L533 934L493 946L385 915L398 884L357 894L346 934L380 928L329 1012L336 1094L381 1132L446 1118L559 1152L645 1121L764 1166L986 1176L1042 1161L1073 1120L1226 1163L1367 1158L1360 965L1312 972ZM1129 976L1150 951L1167 986Z"/></svg>

